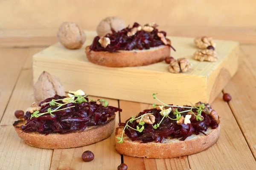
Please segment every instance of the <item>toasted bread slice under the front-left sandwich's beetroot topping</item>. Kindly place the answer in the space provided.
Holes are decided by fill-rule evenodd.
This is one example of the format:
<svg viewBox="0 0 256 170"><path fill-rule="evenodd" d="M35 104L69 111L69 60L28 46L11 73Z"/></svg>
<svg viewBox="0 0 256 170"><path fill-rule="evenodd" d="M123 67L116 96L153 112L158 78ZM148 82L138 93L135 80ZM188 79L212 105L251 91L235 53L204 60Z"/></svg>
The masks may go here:
<svg viewBox="0 0 256 170"><path fill-rule="evenodd" d="M34 147L47 149L65 149L72 147L81 147L93 144L108 138L115 128L115 115L111 116L104 125L87 127L84 131L70 133L50 133L43 135L38 132L22 132L21 125L25 125L26 120L16 121L13 126L18 136L27 144Z"/></svg>

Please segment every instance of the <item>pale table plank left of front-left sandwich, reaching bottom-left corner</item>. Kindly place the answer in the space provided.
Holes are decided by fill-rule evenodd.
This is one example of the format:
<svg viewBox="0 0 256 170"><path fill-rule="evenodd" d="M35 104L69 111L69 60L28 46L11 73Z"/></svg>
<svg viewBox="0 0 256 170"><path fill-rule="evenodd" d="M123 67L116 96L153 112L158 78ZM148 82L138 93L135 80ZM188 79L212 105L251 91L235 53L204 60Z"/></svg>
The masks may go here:
<svg viewBox="0 0 256 170"><path fill-rule="evenodd" d="M21 71L0 126L1 170L45 170L50 167L53 150L39 149L25 144L12 126L17 120L14 111L25 109L33 101L32 85L32 70Z"/></svg>

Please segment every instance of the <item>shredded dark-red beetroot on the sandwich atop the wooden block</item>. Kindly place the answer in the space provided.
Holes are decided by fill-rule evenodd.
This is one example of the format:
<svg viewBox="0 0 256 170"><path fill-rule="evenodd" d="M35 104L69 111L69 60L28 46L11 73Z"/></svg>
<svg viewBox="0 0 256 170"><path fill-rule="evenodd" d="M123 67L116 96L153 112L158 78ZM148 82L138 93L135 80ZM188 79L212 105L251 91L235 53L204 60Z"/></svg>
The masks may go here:
<svg viewBox="0 0 256 170"><path fill-rule="evenodd" d="M160 45L164 45L164 43L160 40L160 37L157 36L157 33L163 33L163 35L166 37L166 32L158 31L157 28L154 28L154 30L151 32L141 30L137 31L137 33L133 36L127 36L127 33L131 31L132 28L138 26L140 26L138 23L134 23L131 28L129 28L128 26L121 31L116 32L112 30L112 34L106 34L105 37L108 37L111 41L111 43L106 48L100 45L100 37L97 36L94 38L92 45L90 45L90 50L110 52L115 52L119 50L130 51L135 49L149 49L151 47L158 47Z"/></svg>

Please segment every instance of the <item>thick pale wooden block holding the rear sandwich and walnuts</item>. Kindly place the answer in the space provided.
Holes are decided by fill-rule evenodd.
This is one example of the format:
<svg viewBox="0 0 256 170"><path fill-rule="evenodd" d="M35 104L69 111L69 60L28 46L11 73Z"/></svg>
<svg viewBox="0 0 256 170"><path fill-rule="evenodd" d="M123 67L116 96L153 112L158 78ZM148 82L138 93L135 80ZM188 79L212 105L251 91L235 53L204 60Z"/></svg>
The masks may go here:
<svg viewBox="0 0 256 170"><path fill-rule="evenodd" d="M88 62L84 48L96 32L85 33L87 40L81 49L69 50L57 43L35 54L34 82L42 71L48 71L61 80L66 91L83 89L93 96L160 104L152 97L158 93L166 104L184 105L211 103L238 69L239 42L215 40L217 62L200 62L192 58L197 50L193 38L186 37L168 37L176 49L172 57L185 57L192 63L192 70L186 73L170 73L165 62L127 68L95 65Z"/></svg>

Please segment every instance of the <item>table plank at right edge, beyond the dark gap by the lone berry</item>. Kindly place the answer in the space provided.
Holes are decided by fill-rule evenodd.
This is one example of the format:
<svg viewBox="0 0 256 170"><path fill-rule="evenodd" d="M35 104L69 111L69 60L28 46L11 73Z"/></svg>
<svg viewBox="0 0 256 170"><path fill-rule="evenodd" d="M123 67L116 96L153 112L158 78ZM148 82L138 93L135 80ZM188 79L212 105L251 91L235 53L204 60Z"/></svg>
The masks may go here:
<svg viewBox="0 0 256 170"><path fill-rule="evenodd" d="M236 121L241 128L254 158L256 158L256 48L255 45L242 46L239 71L224 88L232 96L229 102ZM239 83L238 83L239 82Z"/></svg>

